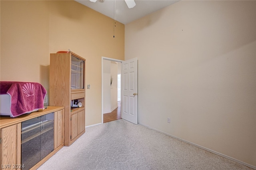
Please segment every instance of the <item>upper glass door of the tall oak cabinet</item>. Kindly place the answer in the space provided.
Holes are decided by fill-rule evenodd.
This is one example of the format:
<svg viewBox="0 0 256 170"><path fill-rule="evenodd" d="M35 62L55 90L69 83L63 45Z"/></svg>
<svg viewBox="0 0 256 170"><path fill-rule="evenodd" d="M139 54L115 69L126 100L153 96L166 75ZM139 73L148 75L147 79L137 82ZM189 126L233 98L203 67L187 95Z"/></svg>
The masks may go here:
<svg viewBox="0 0 256 170"><path fill-rule="evenodd" d="M71 55L71 89L84 88L84 61Z"/></svg>

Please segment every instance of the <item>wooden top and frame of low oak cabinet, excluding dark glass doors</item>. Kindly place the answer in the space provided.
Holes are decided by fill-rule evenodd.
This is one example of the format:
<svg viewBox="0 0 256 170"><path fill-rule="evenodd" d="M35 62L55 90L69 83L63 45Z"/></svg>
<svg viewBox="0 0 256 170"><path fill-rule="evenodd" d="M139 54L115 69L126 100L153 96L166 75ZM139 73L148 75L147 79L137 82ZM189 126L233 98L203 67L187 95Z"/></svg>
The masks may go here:
<svg viewBox="0 0 256 170"><path fill-rule="evenodd" d="M54 112L54 150L33 166L30 170L36 170L52 155L64 146L64 107L48 106L41 112L23 114L16 118L0 116L0 170L22 169L21 164L21 123L39 116Z"/></svg>

